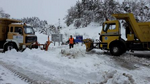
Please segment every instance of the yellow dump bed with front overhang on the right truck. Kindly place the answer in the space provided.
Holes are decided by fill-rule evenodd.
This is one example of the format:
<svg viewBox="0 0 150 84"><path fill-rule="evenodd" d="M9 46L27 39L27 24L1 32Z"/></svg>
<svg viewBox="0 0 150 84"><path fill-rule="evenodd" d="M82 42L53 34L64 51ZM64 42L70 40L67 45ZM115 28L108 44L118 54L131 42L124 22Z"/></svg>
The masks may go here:
<svg viewBox="0 0 150 84"><path fill-rule="evenodd" d="M132 28L135 36L141 42L150 42L150 22L143 22L138 23L134 15L132 13L128 14L114 14L113 15L116 19L123 19L125 20Z"/></svg>

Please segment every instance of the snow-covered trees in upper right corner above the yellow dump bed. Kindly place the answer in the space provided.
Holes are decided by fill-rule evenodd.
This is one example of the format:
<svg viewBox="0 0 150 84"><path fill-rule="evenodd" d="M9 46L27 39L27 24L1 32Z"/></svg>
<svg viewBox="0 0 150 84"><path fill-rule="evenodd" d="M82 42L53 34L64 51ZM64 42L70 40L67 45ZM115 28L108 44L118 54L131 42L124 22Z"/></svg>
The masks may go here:
<svg viewBox="0 0 150 84"><path fill-rule="evenodd" d="M126 1L124 0L122 8L126 13L133 13L140 22L150 21L150 3L145 0Z"/></svg>

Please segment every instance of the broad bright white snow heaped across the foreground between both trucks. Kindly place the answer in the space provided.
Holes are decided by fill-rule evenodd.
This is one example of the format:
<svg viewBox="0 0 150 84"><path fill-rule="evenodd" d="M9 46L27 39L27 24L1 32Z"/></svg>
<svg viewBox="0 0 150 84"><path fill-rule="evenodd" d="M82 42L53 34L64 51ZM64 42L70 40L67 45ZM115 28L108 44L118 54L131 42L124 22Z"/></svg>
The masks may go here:
<svg viewBox="0 0 150 84"><path fill-rule="evenodd" d="M69 55L71 59L66 54L60 53L64 48L65 52L71 52ZM121 84L126 84L126 81L130 83L130 79L122 75L122 71L112 66L113 61L109 57L96 51L93 52L101 54L99 57L93 52L86 54L83 50L84 46L79 45L75 45L74 49L69 49L68 46L52 47L48 52L40 49L26 49L23 53L12 50L0 54L0 58L8 64L19 67L15 69L21 73L39 81L56 80L61 84L70 82L73 84L88 82L112 84L111 82L119 81L122 82Z"/></svg>

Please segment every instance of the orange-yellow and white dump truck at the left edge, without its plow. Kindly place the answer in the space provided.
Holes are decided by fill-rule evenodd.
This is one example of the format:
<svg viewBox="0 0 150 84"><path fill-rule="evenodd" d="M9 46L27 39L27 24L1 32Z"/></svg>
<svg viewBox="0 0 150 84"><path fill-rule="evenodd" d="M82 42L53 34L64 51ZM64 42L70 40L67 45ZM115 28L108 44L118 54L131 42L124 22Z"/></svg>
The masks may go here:
<svg viewBox="0 0 150 84"><path fill-rule="evenodd" d="M37 42L33 27L14 19L0 18L0 49L23 51ZM37 47L37 46L36 46Z"/></svg>

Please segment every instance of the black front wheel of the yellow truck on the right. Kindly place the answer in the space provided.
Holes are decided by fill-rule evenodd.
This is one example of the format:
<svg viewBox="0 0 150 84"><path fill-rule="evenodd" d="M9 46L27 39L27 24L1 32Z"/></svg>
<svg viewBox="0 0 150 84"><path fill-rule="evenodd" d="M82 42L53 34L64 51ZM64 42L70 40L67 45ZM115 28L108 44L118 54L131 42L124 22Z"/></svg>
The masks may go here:
<svg viewBox="0 0 150 84"><path fill-rule="evenodd" d="M121 50L120 45L112 45L110 47L110 53L114 56L120 56L123 53L123 51Z"/></svg>

